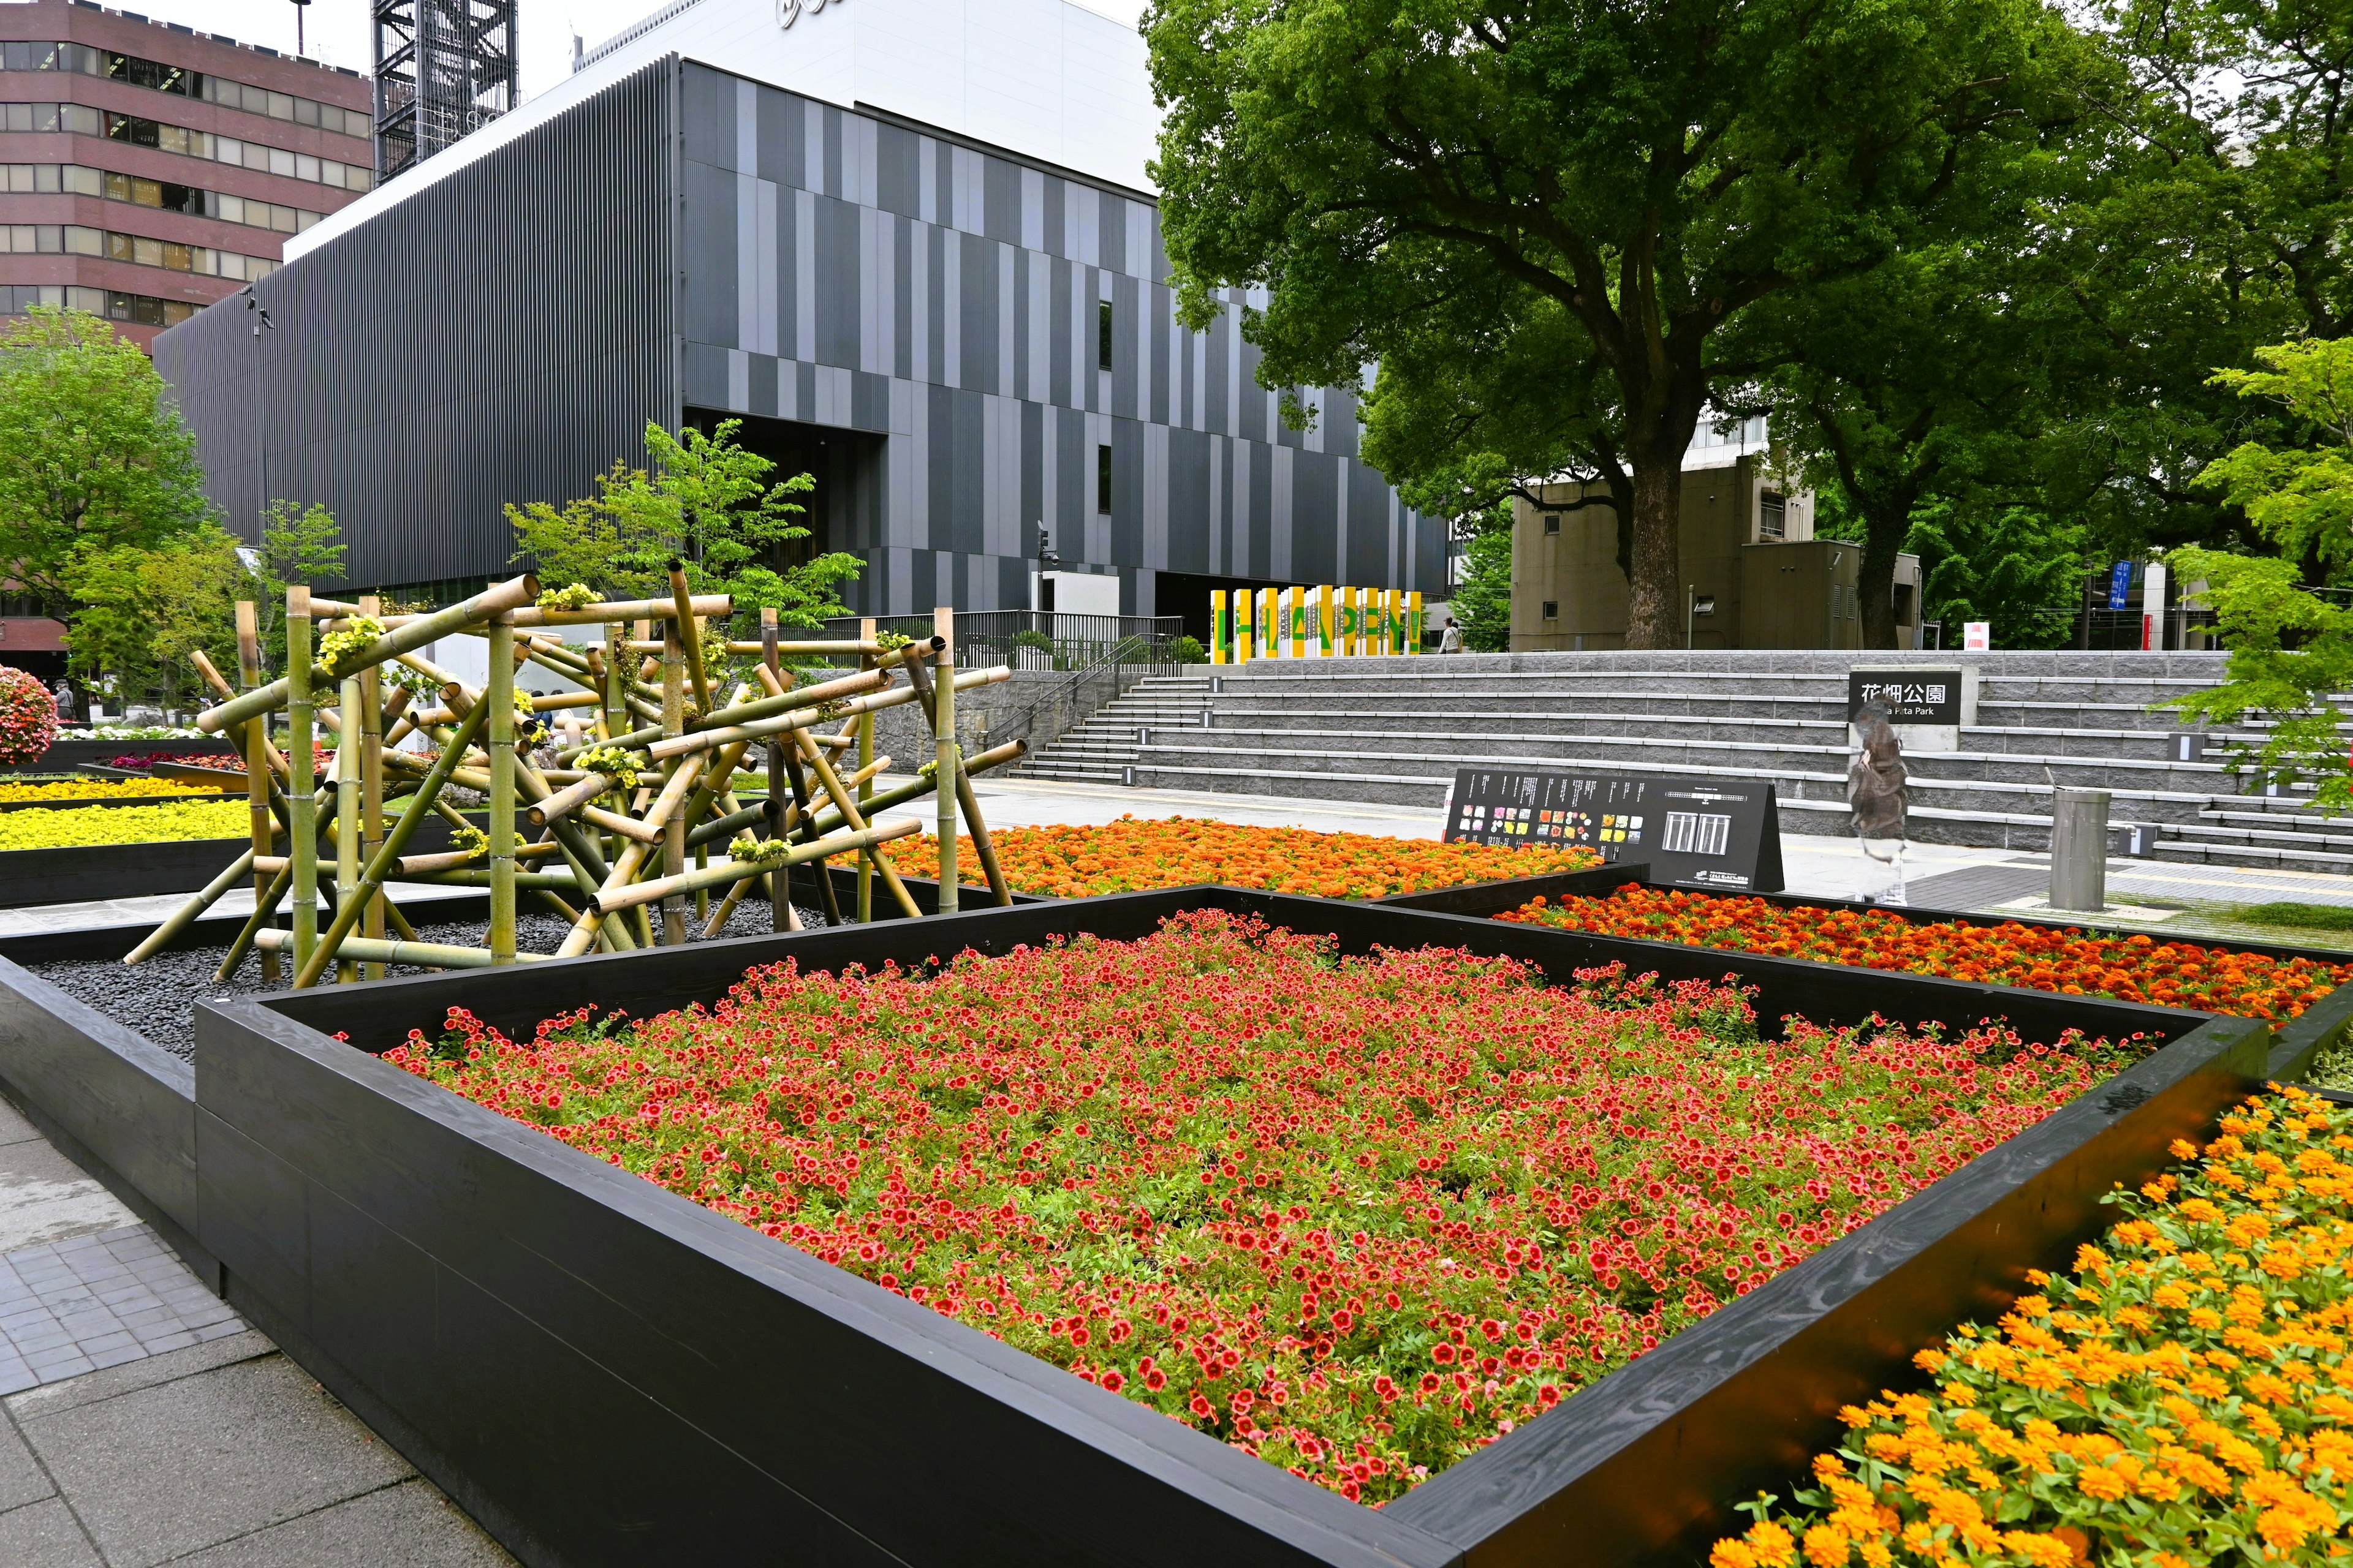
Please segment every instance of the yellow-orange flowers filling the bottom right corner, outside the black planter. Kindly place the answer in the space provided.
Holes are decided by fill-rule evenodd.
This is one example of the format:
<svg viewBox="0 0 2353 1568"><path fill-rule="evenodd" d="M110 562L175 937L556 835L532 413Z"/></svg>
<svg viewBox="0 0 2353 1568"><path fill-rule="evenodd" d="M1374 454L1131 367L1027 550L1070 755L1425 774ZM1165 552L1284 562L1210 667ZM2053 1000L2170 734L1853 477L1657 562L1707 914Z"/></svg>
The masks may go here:
<svg viewBox="0 0 2353 1568"><path fill-rule="evenodd" d="M2329 1563L2353 1523L2353 1126L2297 1088L2118 1194L2075 1274L1918 1356L1932 1394L1840 1410L1795 1512L1715 1568Z"/></svg>

